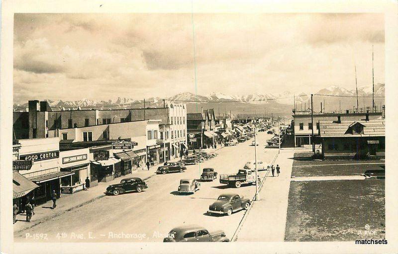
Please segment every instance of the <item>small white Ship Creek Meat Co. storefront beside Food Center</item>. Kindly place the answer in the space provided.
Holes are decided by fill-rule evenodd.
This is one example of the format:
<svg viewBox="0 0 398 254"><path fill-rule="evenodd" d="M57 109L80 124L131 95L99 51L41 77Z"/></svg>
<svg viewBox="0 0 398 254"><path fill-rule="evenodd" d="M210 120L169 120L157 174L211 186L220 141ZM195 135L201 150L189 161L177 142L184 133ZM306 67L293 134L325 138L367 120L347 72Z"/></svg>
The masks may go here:
<svg viewBox="0 0 398 254"><path fill-rule="evenodd" d="M74 173L61 179L61 193L73 194L85 188L86 178L90 176L89 157L88 148L60 152L60 170ZM95 186L97 183L93 182L90 186Z"/></svg>

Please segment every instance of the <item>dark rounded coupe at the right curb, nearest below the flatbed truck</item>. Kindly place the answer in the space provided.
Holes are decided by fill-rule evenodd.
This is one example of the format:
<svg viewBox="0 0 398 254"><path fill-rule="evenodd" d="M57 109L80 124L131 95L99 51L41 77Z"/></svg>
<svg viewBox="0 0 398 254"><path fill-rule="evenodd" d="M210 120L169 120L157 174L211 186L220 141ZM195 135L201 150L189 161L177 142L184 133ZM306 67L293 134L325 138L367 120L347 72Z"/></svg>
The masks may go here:
<svg viewBox="0 0 398 254"><path fill-rule="evenodd" d="M243 198L236 193L221 194L217 201L208 207L208 213L231 215L232 212L247 210L250 206L250 200Z"/></svg>

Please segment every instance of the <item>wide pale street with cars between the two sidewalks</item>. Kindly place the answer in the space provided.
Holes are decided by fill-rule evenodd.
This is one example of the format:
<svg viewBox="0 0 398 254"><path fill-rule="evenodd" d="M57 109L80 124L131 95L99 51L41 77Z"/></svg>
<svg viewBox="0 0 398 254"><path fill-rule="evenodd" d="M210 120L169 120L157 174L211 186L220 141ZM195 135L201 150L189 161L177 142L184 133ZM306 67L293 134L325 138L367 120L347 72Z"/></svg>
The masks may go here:
<svg viewBox="0 0 398 254"><path fill-rule="evenodd" d="M258 160L266 165L271 162L278 149L267 149L265 140L272 135L258 133ZM76 208L49 221L38 224L16 234L15 241L33 241L25 239L25 234L46 233L48 241L127 241L162 242L166 234L174 227L184 224L199 224L209 231L224 230L231 238L245 211L231 216L210 216L208 206L221 193L235 192L252 198L255 186L242 186L239 189L228 188L220 184L218 178L213 182L201 182L200 190L193 195L178 195L177 188L182 178L199 178L201 169L214 168L219 174L236 173L247 161L254 160L253 139L234 147L218 150L218 156L199 165L187 166L183 173L156 175L146 182L149 186L142 193L128 193L118 196L105 196L85 206ZM266 171L261 171L264 176ZM100 187L100 186L99 186ZM59 203L62 203L62 198ZM57 234L64 237L57 237ZM72 234L83 234L76 239ZM130 234L127 238L115 234ZM113 234L113 237L112 237ZM145 234L145 236L144 236Z"/></svg>

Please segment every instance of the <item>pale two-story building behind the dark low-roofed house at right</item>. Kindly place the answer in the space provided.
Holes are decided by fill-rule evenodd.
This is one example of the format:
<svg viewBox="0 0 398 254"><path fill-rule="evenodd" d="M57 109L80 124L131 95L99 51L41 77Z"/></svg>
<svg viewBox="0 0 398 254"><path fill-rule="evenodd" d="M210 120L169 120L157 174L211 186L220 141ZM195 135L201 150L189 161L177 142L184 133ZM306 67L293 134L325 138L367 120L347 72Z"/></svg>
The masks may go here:
<svg viewBox="0 0 398 254"><path fill-rule="evenodd" d="M338 117L342 121L355 121L363 120L366 118L366 112L364 113L313 113L313 124L315 128L313 130L314 137L318 138L319 121L332 122ZM369 119L381 119L382 113L368 113ZM312 135L312 121L310 111L294 112L292 115L294 119L294 135L295 135L295 147L311 147L311 135Z"/></svg>

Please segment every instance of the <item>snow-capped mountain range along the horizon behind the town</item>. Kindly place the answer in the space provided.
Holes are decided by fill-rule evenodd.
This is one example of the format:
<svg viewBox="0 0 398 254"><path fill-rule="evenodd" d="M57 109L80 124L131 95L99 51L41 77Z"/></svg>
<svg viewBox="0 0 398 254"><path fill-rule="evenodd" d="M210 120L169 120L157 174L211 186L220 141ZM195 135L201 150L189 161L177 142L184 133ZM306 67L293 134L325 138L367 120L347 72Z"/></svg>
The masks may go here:
<svg viewBox="0 0 398 254"><path fill-rule="evenodd" d="M316 94L319 94L316 96ZM377 84L375 85L375 96L378 97L378 101L383 101L384 98L380 99L381 96L385 94L385 85L384 84ZM333 96L321 96L321 95L333 95ZM352 97L336 97L336 96L355 96L356 90L355 89L347 89L341 86L333 85L328 88L320 89L315 93L314 96L314 106L318 105L320 101L325 101L325 104L329 108L333 106L335 109L337 107L344 106L352 108L352 105L356 105L356 98ZM363 97L367 97L366 100ZM361 100L361 105L367 106L369 104L369 96L372 96L372 86L363 86L358 87L358 97ZM295 99L294 99L295 98ZM198 104L200 104L203 108L211 108L213 107L216 109L220 107L219 102L230 102L230 103L223 103L222 108L225 107L233 108L234 110L243 110L245 112L250 112L256 110L264 110L264 108L268 108L267 110L274 110L275 112L288 112L290 114L292 105L294 101L296 102L297 108L303 109L309 103L309 94L300 93L300 94L293 94L290 91L285 91L279 94L271 94L271 93L253 93L253 94L245 94L245 95L229 95L222 92L211 92L207 95L197 95L192 92L182 92L171 96L169 98L161 98L161 97L151 97L146 98L146 107L159 107L163 106L163 99L169 101L176 101L181 103L187 103L188 105L188 112L190 109L198 108ZM327 99L327 103L326 103ZM341 102L343 100L343 105ZM370 98L371 100L371 98ZM78 107L82 109L117 109L117 108L142 108L144 100L137 100L132 98L126 97L118 97L115 99L109 100L101 100L95 101L91 99L82 99L82 100L75 100L75 101L63 101L63 100L51 100L47 99L50 106L55 110L69 110L69 109L77 109ZM363 103L362 103L363 101ZM375 100L376 101L376 100ZM337 103L337 105L336 105ZM348 104L347 104L348 103ZM370 102L371 103L371 102ZM302 104L302 105L301 105ZM347 104L347 105L346 105ZM375 102L376 104L376 102ZM289 106L288 106L289 105ZM304 106L305 105L305 106ZM14 104L14 111L25 111L27 107L27 103L25 104ZM324 107L324 106L322 106ZM320 109L320 106L319 106ZM286 111L286 112L285 112Z"/></svg>

